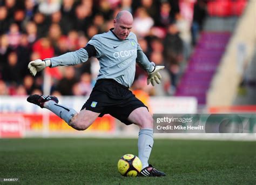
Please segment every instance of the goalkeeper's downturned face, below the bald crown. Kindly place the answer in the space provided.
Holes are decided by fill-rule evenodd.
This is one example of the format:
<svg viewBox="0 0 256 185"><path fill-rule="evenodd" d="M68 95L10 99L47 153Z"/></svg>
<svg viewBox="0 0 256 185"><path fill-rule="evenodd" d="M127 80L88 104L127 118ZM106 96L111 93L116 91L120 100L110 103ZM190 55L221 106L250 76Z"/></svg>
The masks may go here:
<svg viewBox="0 0 256 185"><path fill-rule="evenodd" d="M131 21L124 21L122 19L116 20L114 19L114 33L120 40L126 39L132 29Z"/></svg>

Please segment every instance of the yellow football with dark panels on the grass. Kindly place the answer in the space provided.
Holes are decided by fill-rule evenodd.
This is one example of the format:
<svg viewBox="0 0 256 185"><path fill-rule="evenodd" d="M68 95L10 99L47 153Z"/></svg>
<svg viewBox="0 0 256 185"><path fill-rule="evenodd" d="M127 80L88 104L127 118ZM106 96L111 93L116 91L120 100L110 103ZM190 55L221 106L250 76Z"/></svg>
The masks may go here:
<svg viewBox="0 0 256 185"><path fill-rule="evenodd" d="M125 154L117 163L118 172L123 176L137 176L142 170L142 161L133 154Z"/></svg>

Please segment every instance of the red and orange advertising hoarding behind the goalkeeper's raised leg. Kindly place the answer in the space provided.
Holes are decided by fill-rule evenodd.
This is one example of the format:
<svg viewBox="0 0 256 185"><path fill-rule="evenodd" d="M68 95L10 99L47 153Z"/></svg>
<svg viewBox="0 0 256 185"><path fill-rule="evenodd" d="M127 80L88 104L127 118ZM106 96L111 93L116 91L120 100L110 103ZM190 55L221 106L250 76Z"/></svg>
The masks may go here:
<svg viewBox="0 0 256 185"><path fill-rule="evenodd" d="M76 132L55 114L19 114L1 113L0 138L22 138L26 132ZM97 118L86 132L112 133L115 131L115 119L110 115Z"/></svg>

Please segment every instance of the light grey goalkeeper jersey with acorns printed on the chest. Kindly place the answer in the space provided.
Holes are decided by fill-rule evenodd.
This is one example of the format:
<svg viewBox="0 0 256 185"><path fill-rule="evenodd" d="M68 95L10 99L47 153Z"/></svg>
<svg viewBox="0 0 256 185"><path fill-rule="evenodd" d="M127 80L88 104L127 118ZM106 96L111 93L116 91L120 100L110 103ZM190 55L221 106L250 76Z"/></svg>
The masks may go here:
<svg viewBox="0 0 256 185"><path fill-rule="evenodd" d="M100 70L98 79L114 79L118 83L131 87L135 71L136 61L146 72L154 70L153 63L147 59L134 33L125 40L119 40L112 31L95 35L87 44L96 49L96 58L99 60ZM68 66L84 63L88 59L85 49L65 53L59 57L51 58L52 67Z"/></svg>

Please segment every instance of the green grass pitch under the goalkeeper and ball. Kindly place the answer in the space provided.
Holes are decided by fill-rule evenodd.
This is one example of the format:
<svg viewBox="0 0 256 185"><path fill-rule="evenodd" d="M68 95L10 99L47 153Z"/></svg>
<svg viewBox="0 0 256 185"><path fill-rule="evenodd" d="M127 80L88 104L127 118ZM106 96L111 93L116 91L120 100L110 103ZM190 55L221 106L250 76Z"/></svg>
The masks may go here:
<svg viewBox="0 0 256 185"><path fill-rule="evenodd" d="M1 139L0 178L18 184L256 184L256 142L156 139L165 177L123 177L117 161L137 139ZM15 184L0 182L0 184Z"/></svg>

